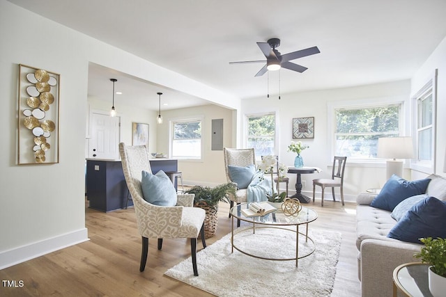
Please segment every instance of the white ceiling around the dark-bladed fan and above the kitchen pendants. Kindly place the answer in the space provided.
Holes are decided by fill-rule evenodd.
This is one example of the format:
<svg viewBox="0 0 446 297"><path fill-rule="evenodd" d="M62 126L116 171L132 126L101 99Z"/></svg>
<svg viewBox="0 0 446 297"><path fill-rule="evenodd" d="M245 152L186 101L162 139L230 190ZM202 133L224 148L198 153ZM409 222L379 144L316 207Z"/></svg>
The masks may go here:
<svg viewBox="0 0 446 297"><path fill-rule="evenodd" d="M241 99L266 96L256 42L280 38L282 54L317 46L293 61L309 70L271 72L269 93L410 79L446 36L445 0L9 0L60 24ZM280 73L280 77L279 74ZM89 95L158 109L203 104L162 86L92 65ZM280 83L279 83L280 81ZM181 98L181 99L179 99ZM190 102L190 103L189 103ZM117 104L118 104L117 103ZM117 105L115 104L115 105Z"/></svg>

